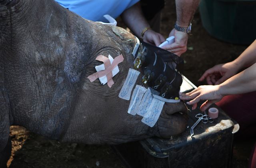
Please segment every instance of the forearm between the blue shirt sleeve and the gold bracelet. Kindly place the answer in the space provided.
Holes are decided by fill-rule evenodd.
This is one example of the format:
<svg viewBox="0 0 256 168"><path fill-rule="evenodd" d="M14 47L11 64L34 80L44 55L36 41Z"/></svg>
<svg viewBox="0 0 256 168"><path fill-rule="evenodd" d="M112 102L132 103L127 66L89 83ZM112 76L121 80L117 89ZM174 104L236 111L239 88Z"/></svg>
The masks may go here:
<svg viewBox="0 0 256 168"><path fill-rule="evenodd" d="M145 27L150 27L142 14L139 2L126 9L122 13L121 17L124 23L126 23L132 32L138 37L141 37L141 33Z"/></svg>

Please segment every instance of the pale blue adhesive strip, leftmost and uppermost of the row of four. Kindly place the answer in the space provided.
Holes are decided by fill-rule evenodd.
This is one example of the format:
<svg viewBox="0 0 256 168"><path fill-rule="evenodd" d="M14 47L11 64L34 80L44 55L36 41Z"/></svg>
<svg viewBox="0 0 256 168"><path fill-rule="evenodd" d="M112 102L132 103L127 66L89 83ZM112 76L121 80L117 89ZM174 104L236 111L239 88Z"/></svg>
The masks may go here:
<svg viewBox="0 0 256 168"><path fill-rule="evenodd" d="M138 70L129 69L128 75L124 81L124 85L118 95L119 98L124 100L130 100L132 88L139 76L140 72Z"/></svg>

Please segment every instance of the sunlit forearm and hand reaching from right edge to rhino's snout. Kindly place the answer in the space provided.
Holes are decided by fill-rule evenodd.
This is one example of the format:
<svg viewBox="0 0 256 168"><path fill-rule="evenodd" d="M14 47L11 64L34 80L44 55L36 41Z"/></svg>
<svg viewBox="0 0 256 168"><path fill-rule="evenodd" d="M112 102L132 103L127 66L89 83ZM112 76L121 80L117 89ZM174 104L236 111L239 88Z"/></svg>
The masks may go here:
<svg viewBox="0 0 256 168"><path fill-rule="evenodd" d="M190 100L187 102L189 105L193 105L192 109L195 109L197 103L201 100L206 100L200 109L206 110L213 103L219 102L223 96L231 94L242 94L253 92L256 90L256 64L253 64L246 70L232 76L225 82L219 85L204 85L199 86L195 90L189 93L180 93L181 100Z"/></svg>

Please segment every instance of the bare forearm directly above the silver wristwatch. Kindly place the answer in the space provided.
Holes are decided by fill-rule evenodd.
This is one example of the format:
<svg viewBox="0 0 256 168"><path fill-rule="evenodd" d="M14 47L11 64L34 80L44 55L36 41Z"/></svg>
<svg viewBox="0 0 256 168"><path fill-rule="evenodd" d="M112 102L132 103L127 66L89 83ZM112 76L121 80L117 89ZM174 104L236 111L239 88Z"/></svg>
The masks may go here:
<svg viewBox="0 0 256 168"><path fill-rule="evenodd" d="M176 0L177 24L188 27L200 0Z"/></svg>

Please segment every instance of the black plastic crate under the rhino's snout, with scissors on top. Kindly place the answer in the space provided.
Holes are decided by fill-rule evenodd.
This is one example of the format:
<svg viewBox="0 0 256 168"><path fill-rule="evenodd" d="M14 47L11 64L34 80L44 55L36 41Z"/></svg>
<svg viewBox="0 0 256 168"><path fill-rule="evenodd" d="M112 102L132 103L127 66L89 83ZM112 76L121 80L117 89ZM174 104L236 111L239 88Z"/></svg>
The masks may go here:
<svg viewBox="0 0 256 168"><path fill-rule="evenodd" d="M188 92L195 87L184 78L181 90ZM194 129L193 137L190 137L190 127L197 120L195 115L202 113L199 108L188 113L188 128L180 135L170 139L153 137L112 148L128 168L230 167L233 135L238 131L239 125L217 108L219 117L213 123L200 122Z"/></svg>

